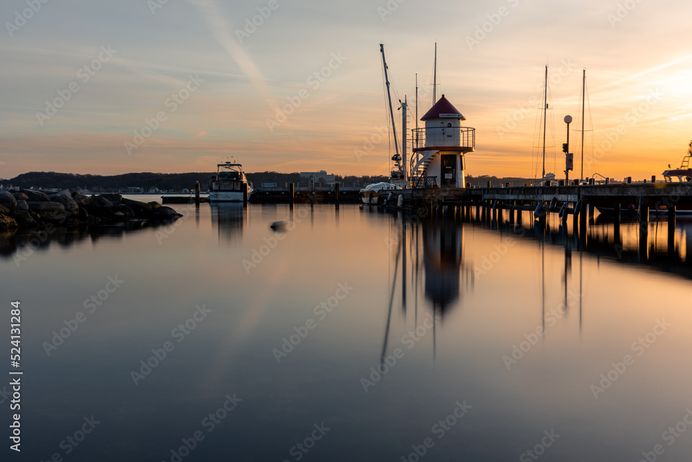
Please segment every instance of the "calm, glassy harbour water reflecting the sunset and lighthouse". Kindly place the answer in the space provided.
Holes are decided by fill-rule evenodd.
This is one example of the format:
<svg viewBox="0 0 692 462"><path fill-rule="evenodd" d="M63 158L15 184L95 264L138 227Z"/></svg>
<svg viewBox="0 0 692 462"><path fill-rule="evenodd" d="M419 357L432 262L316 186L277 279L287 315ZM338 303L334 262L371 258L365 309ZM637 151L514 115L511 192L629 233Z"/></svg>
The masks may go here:
<svg viewBox="0 0 692 462"><path fill-rule="evenodd" d="M612 224L584 247L554 217L175 208L1 242L3 336L22 308L11 460L689 461L684 224L673 259L651 224L637 264L628 225L618 258Z"/></svg>

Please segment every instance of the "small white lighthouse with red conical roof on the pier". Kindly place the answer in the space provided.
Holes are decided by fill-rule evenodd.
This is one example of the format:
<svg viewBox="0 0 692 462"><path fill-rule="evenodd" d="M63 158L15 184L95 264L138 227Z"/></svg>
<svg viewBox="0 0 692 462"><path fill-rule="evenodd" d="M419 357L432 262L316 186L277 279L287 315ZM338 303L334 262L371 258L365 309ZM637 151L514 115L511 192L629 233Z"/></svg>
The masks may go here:
<svg viewBox="0 0 692 462"><path fill-rule="evenodd" d="M444 95L421 117L426 127L413 130L413 188L466 187L464 154L475 150L475 128L462 127L465 120Z"/></svg>

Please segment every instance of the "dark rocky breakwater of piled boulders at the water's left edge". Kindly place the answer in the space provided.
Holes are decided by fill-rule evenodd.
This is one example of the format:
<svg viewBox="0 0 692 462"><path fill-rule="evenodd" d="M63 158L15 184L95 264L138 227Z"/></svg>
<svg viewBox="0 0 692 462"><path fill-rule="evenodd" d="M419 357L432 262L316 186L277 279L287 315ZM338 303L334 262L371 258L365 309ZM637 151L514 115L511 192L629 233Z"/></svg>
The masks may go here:
<svg viewBox="0 0 692 462"><path fill-rule="evenodd" d="M182 217L158 202L139 202L118 194L86 196L62 190L21 190L0 193L0 230L43 228L127 221L172 221Z"/></svg>

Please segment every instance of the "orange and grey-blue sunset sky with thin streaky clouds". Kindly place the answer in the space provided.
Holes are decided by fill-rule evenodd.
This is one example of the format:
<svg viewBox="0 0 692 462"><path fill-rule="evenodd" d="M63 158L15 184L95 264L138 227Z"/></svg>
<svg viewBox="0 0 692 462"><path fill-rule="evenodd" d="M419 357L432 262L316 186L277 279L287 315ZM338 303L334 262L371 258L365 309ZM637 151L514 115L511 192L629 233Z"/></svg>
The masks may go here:
<svg viewBox="0 0 692 462"><path fill-rule="evenodd" d="M475 128L469 175L649 178L692 139L683 0L3 0L0 177L248 172L387 175L394 117L444 94ZM417 77L416 77L417 75Z"/></svg>

